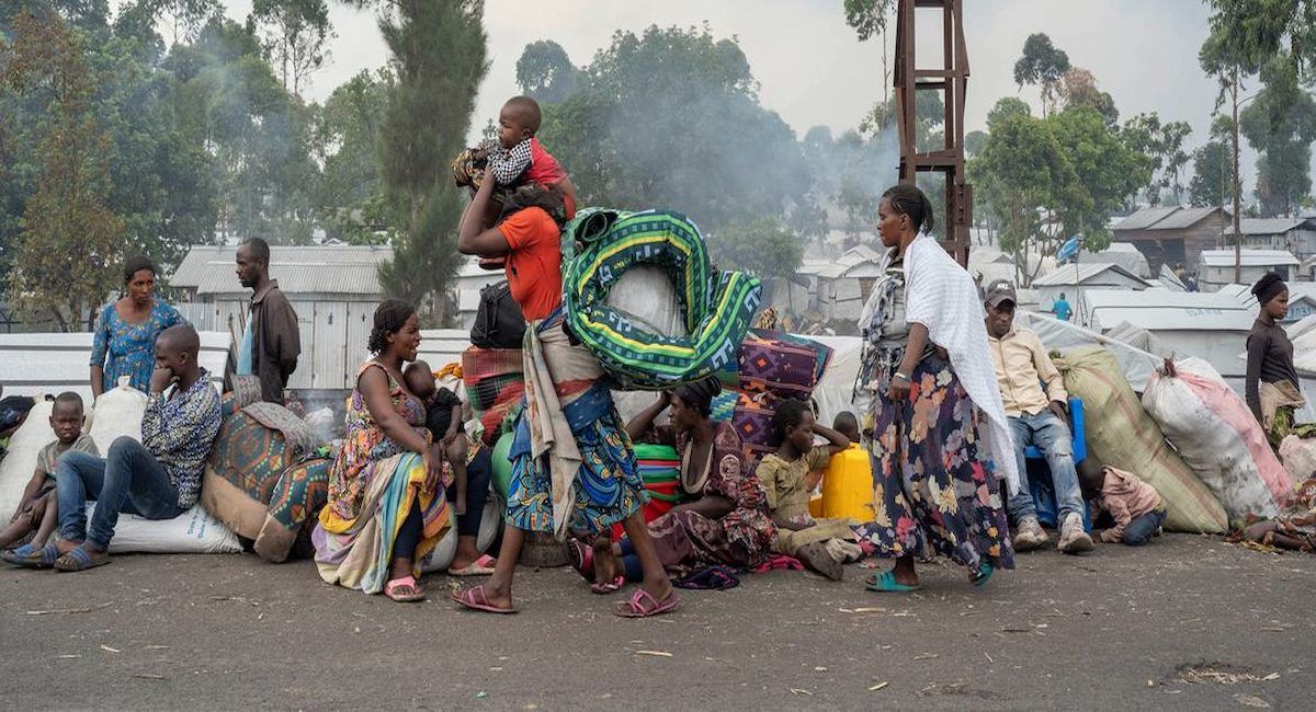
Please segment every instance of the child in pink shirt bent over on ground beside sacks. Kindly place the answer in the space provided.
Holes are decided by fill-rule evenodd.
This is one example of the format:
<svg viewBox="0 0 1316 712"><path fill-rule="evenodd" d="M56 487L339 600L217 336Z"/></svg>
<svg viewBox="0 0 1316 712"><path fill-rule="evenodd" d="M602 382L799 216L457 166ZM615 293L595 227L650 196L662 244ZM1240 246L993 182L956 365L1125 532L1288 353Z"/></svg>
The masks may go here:
<svg viewBox="0 0 1316 712"><path fill-rule="evenodd" d="M1141 546L1153 536L1159 536L1161 524L1165 523L1165 502L1152 485L1138 479L1136 474L1103 468L1091 456L1079 464L1078 481L1083 498L1091 499L1115 519L1113 527L1100 532L1101 541L1124 541L1129 546Z"/></svg>

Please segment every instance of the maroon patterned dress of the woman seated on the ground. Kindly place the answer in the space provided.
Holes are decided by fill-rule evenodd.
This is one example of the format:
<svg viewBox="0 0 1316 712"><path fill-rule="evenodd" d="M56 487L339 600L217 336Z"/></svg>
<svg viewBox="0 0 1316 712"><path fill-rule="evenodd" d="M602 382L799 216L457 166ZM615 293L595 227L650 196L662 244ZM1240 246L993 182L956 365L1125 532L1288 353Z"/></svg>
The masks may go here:
<svg viewBox="0 0 1316 712"><path fill-rule="evenodd" d="M682 485L694 499L719 495L732 502L732 511L709 519L690 510L667 512L649 523L658 558L669 574L683 577L715 564L736 567L758 565L772 553L776 525L767 515L767 494L758 477L745 466L741 439L730 423L717 423L707 465L690 462L692 443L671 426L654 428L657 443L682 455ZM690 465L699 476L688 482ZM700 483L700 479L703 481ZM690 491L695 490L695 491Z"/></svg>

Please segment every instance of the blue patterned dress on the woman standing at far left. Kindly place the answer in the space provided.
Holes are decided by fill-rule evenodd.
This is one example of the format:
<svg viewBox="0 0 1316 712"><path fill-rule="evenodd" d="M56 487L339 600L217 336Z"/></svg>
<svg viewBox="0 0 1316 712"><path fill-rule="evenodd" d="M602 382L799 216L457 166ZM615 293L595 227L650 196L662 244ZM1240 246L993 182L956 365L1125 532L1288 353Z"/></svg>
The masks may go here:
<svg viewBox="0 0 1316 712"><path fill-rule="evenodd" d="M146 319L129 322L114 302L105 305L96 318L96 332L91 347L91 365L105 369L103 386L111 390L118 378L129 377L129 385L146 393L155 370L155 338L161 331L187 323L172 306L154 300Z"/></svg>

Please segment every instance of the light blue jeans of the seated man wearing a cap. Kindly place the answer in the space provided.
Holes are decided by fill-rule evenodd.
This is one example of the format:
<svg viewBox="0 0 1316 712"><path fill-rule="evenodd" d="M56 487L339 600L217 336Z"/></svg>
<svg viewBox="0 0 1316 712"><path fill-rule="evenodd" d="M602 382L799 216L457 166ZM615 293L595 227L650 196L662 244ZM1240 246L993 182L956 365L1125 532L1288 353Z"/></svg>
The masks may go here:
<svg viewBox="0 0 1316 712"><path fill-rule="evenodd" d="M1078 486L1074 436L1070 435L1069 426L1054 412L1044 410L1037 415L1025 412L1009 418L1009 432L1015 440L1015 462L1019 465L1019 494L1011 497L1005 507L1009 518L1019 523L1024 518L1037 516L1033 494L1028 486L1028 462L1024 458L1024 449L1028 445L1037 445L1046 457L1046 466L1051 470L1051 485L1055 487L1058 519L1063 522L1070 512L1083 516L1083 493Z"/></svg>

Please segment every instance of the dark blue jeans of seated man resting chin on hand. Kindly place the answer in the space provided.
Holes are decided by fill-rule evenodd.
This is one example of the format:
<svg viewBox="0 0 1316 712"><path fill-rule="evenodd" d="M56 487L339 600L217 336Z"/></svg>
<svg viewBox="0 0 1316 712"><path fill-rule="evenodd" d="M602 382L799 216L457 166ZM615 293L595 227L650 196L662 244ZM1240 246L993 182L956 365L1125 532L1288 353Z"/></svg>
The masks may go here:
<svg viewBox="0 0 1316 712"><path fill-rule="evenodd" d="M120 437L109 445L105 458L84 452L67 452L55 465L55 493L59 502L59 536L108 549L114 537L118 514L146 519L174 519L183 514L178 489L164 468L141 443ZM87 501L96 511L87 528Z"/></svg>

